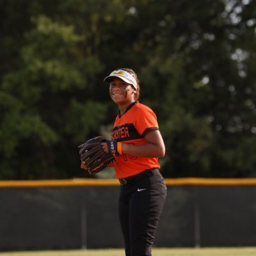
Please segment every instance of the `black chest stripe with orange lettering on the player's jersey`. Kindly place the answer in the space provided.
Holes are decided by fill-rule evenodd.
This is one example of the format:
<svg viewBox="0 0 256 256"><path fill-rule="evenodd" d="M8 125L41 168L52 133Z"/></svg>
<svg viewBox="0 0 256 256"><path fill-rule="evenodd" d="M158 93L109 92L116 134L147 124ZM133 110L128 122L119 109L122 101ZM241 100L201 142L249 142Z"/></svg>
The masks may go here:
<svg viewBox="0 0 256 256"><path fill-rule="evenodd" d="M114 127L112 134L112 140L127 141L141 139L143 136L134 127L134 124L124 124L118 127Z"/></svg>

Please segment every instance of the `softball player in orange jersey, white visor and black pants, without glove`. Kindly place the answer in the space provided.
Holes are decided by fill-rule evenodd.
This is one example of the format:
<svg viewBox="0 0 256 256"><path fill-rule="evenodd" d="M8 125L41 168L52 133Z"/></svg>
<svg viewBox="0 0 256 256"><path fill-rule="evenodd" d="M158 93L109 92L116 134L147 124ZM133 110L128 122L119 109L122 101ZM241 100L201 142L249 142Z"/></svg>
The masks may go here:
<svg viewBox="0 0 256 256"><path fill-rule="evenodd" d="M166 198L158 157L165 154L164 141L152 109L138 102L140 85L130 68L113 71L111 99L118 105L112 140L120 156L115 161L120 181L119 217L126 256L150 256L157 224Z"/></svg>

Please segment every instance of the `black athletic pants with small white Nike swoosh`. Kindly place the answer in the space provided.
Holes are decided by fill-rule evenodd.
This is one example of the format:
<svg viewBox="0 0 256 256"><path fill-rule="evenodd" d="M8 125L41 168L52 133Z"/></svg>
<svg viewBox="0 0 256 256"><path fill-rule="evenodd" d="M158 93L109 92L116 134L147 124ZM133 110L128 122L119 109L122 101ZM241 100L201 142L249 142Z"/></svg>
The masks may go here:
<svg viewBox="0 0 256 256"><path fill-rule="evenodd" d="M166 198L164 179L157 169L121 185L119 217L126 256L151 256L156 229ZM122 180L121 180L122 181ZM126 182L126 180L124 180Z"/></svg>

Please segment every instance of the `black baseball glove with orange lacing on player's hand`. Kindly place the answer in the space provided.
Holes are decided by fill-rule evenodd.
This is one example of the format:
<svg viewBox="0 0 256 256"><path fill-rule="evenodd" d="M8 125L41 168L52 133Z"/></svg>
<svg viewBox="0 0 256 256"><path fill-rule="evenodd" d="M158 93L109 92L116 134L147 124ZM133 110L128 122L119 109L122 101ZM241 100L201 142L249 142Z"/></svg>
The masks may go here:
<svg viewBox="0 0 256 256"><path fill-rule="evenodd" d="M108 152L105 152L102 148L102 143L104 142L108 145ZM102 136L97 136L86 141L82 145L79 145L78 149L84 169L90 174L102 171L109 164L114 163L118 157L117 142L107 140Z"/></svg>

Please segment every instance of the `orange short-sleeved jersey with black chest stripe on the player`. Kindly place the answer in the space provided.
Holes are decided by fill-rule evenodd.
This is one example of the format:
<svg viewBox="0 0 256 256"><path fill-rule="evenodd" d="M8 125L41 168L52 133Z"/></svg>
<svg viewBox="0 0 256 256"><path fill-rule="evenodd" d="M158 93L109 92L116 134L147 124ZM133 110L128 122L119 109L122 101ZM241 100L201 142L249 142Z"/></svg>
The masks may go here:
<svg viewBox="0 0 256 256"><path fill-rule="evenodd" d="M148 131L158 129L156 114L152 109L139 102L134 102L123 115L116 116L111 139L122 143L141 145L147 143L143 137ZM136 175L146 169L159 167L157 157L122 154L115 161L116 177L118 179Z"/></svg>

